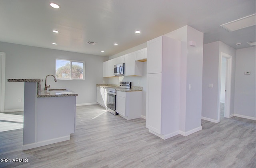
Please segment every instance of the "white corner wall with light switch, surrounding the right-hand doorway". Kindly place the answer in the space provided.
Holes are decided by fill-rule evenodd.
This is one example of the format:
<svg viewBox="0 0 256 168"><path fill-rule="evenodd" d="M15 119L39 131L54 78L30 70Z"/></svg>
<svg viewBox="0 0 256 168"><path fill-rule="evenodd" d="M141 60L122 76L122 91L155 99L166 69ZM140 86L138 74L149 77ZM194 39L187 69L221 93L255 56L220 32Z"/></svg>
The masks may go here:
<svg viewBox="0 0 256 168"><path fill-rule="evenodd" d="M236 50L223 42L217 41L204 44L203 56L203 87L202 87L202 118L219 122L219 88L221 80L221 53L232 56L230 114L234 114L234 80L236 68ZM213 84L213 88L208 88Z"/></svg>

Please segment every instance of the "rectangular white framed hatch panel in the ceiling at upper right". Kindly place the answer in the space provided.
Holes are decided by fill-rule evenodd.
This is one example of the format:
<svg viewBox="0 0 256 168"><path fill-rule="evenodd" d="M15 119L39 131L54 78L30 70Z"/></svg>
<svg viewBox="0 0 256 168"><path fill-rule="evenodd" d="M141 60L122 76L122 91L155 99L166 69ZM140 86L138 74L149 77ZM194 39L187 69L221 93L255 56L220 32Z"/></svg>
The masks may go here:
<svg viewBox="0 0 256 168"><path fill-rule="evenodd" d="M250 16L246 16L244 18L240 18L238 20L234 20L232 22L222 24L220 26L230 32L233 32L235 30L239 30L242 28L247 28L247 27L255 25L255 20L256 20L255 14L252 14Z"/></svg>

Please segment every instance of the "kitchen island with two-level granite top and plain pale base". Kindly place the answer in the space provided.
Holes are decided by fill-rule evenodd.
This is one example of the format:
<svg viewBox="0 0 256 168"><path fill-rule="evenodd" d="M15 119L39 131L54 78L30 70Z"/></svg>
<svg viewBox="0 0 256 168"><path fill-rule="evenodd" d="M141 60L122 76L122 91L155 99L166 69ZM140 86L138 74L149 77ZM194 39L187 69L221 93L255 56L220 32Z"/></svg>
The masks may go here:
<svg viewBox="0 0 256 168"><path fill-rule="evenodd" d="M72 90L40 90L40 79L8 79L24 82L22 150L70 140L75 132L76 96Z"/></svg>

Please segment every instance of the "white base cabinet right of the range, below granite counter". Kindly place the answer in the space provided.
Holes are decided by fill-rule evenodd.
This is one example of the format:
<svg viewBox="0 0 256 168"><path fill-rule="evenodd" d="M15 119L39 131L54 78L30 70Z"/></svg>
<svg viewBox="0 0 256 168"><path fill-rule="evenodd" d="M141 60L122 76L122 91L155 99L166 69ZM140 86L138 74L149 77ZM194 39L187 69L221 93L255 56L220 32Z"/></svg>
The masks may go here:
<svg viewBox="0 0 256 168"><path fill-rule="evenodd" d="M142 111L142 91L116 91L116 112L126 120L140 118Z"/></svg>

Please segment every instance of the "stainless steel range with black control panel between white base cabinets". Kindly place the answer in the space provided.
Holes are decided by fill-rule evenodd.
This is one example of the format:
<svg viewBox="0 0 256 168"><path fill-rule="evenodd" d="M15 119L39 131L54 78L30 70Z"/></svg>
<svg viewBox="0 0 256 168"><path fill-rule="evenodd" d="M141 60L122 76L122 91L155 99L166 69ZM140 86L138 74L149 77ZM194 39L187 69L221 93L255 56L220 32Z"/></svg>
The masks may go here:
<svg viewBox="0 0 256 168"><path fill-rule="evenodd" d="M131 82L119 82L118 88L131 88ZM107 88L107 107L108 111L114 115L118 115L116 112L116 89L117 88Z"/></svg>

